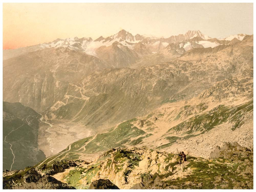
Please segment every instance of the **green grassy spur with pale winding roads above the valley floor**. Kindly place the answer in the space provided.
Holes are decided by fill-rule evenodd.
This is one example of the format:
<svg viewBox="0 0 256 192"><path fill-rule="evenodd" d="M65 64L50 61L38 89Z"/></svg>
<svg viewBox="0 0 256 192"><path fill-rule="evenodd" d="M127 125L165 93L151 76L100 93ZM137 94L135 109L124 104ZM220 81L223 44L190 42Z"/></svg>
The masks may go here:
<svg viewBox="0 0 256 192"><path fill-rule="evenodd" d="M116 128L110 129L106 133L98 134L94 137L87 137L83 138L79 141L76 141L71 144L71 149L69 150L69 146L61 151L60 153L53 155L45 163L51 161L54 159L55 161L59 160L77 160L79 159L79 156L81 153L85 154L93 154L98 152L104 152L111 148L117 148L117 147L125 147L127 144L134 144L137 142L140 142L142 138L145 138L149 136L150 134L146 134L145 131L138 129L136 126L132 124L133 121L136 121L137 119L131 119L127 120L121 124L119 124ZM134 140L131 142L131 140L134 137L142 136L138 140ZM81 148L85 145L85 151ZM79 151L79 148L81 148ZM65 152L69 150L68 152ZM64 153L63 153L64 152ZM53 163L53 161L51 162ZM38 164L39 165L39 164Z"/></svg>

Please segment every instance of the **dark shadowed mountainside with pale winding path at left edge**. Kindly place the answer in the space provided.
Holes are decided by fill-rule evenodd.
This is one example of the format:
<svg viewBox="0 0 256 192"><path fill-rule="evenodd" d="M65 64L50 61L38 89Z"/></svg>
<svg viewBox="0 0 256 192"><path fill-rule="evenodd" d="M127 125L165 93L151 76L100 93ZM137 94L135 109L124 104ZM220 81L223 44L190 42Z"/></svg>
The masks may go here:
<svg viewBox="0 0 256 192"><path fill-rule="evenodd" d="M3 169L24 169L45 158L37 141L40 117L20 103L3 102Z"/></svg>

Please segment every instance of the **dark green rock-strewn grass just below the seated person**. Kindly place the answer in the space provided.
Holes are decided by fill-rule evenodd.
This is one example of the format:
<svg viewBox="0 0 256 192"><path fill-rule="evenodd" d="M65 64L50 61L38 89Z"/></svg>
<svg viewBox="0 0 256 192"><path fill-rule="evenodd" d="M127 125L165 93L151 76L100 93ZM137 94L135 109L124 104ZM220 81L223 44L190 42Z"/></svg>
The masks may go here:
<svg viewBox="0 0 256 192"><path fill-rule="evenodd" d="M179 186L179 189L233 189L235 181L240 183L243 188L248 189L248 186L244 184L249 178L235 173L239 165L244 166L244 162L232 162L222 158L214 160L191 159L188 161L190 163L184 167L184 170L191 168L193 169L192 174L185 178L166 181L167 185ZM220 182L216 182L218 177L220 177ZM199 183L202 185L198 186Z"/></svg>

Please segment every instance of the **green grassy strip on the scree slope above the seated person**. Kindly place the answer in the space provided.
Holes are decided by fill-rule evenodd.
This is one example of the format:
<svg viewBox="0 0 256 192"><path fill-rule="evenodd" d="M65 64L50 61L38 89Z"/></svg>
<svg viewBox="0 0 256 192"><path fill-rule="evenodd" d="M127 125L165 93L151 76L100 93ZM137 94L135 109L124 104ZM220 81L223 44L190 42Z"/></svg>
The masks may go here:
<svg viewBox="0 0 256 192"><path fill-rule="evenodd" d="M253 110L253 101L243 103L236 107L227 107L219 105L209 112L196 115L172 128L163 135L170 142L159 146L158 148L165 148L171 146L181 137L171 136L173 134L184 135L182 137L189 138L203 134L206 131L213 129L215 126L225 122L233 123L232 130L239 128L243 123L243 116L245 113ZM199 132L199 133L198 133ZM195 134L196 133L196 134Z"/></svg>

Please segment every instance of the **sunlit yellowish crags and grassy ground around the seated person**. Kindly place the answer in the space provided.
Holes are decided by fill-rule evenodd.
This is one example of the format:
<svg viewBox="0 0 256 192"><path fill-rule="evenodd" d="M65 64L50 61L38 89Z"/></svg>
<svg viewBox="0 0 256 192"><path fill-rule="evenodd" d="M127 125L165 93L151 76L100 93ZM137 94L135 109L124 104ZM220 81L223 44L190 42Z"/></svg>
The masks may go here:
<svg viewBox="0 0 256 192"><path fill-rule="evenodd" d="M238 146L237 146L238 147ZM120 189L249 189L253 186L251 158L240 161L179 156L144 148L115 148L91 164L81 162L65 172L63 180L77 189L99 188L99 180L109 180ZM204 179L208 178L208 179ZM96 181L96 184L95 184Z"/></svg>

